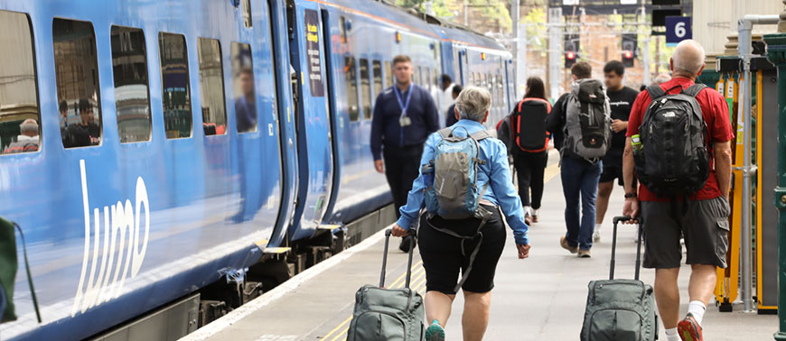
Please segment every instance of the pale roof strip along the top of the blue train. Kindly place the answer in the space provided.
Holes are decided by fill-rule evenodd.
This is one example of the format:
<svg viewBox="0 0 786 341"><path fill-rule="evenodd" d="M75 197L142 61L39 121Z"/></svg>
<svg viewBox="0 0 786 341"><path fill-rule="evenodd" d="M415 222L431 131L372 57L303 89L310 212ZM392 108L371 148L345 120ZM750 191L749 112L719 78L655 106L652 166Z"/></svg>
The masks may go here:
<svg viewBox="0 0 786 341"><path fill-rule="evenodd" d="M360 2L356 0L310 1L329 5L347 13L364 15L392 26L401 26L407 29L407 31L431 36L442 41L453 41L457 44L507 52L505 47L499 42L480 32L474 32L463 25L444 22L434 16L393 5L387 0Z"/></svg>

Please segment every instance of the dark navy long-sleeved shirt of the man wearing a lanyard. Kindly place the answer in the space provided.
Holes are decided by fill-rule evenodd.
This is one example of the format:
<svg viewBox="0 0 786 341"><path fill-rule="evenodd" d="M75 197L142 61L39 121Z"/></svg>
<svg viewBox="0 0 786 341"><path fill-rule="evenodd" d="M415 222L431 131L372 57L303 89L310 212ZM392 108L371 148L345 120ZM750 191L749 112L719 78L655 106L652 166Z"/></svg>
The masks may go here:
<svg viewBox="0 0 786 341"><path fill-rule="evenodd" d="M398 122L401 118L401 106L393 87L382 91L374 105L374 115L371 117L371 154L374 160L382 158L383 144L394 148L423 144L428 134L439 129L434 98L425 88L414 83L401 94L401 101L406 102L408 92L413 91L407 107L407 116L412 124L401 127Z"/></svg>

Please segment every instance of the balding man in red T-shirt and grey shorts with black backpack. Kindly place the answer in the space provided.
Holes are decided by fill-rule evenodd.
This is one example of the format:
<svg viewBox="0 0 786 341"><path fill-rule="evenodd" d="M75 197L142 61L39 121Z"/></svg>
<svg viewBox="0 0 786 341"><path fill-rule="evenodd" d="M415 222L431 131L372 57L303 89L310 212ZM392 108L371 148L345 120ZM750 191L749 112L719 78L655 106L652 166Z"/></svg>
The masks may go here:
<svg viewBox="0 0 786 341"><path fill-rule="evenodd" d="M697 41L677 45L670 60L673 78L639 94L625 141L622 214L638 217L641 209L647 235L644 267L655 269L655 300L668 341L703 340L701 324L715 290L716 267L726 267L734 132L725 98L694 83L704 60ZM658 101L650 107L652 98ZM688 130L682 128L686 125ZM685 167L662 167L664 162ZM688 313L682 320L680 235L685 236L691 269Z"/></svg>

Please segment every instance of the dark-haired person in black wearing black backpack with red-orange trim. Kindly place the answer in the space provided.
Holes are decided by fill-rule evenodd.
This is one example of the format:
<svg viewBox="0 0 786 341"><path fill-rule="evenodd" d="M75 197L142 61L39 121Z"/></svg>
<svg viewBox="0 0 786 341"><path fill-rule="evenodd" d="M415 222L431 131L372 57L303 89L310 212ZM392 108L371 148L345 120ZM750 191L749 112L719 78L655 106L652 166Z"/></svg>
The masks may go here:
<svg viewBox="0 0 786 341"><path fill-rule="evenodd" d="M519 198L524 206L527 223L537 223L543 198L543 176L548 161L547 115L551 104L546 100L546 87L538 77L527 79L524 99L513 108L510 118L501 122L510 136L510 154L519 180ZM499 128L499 126L498 126ZM499 129L498 129L499 131ZM530 200L531 190L531 200Z"/></svg>

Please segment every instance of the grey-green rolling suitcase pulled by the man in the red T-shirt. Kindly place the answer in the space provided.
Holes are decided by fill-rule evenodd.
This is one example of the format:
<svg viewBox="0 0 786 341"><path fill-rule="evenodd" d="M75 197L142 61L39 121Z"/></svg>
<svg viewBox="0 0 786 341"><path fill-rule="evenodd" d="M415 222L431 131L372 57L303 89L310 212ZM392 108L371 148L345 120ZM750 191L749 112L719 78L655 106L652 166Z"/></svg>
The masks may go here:
<svg viewBox="0 0 786 341"><path fill-rule="evenodd" d="M651 341L658 339L655 295L649 284L639 281L641 266L641 217L636 245L634 280L614 280L617 225L631 217L614 217L612 262L608 280L590 281L582 341Z"/></svg>

